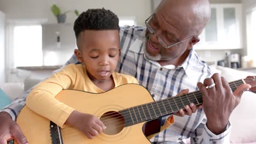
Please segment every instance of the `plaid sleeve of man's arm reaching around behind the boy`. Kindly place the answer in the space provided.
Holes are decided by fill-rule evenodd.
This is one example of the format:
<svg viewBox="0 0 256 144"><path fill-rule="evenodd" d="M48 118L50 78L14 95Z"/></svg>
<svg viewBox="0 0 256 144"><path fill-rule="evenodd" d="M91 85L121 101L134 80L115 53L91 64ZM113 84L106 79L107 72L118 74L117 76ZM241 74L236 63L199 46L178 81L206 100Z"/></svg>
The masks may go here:
<svg viewBox="0 0 256 144"><path fill-rule="evenodd" d="M75 64L78 63L77 61L77 57L75 57L75 55L73 54L71 58L69 58L69 60L65 63L64 66L68 65L68 64ZM56 73L57 71L60 71L61 69L63 69L64 67L57 69L56 71L54 71L54 73ZM24 105L26 104L26 97L28 95L28 93L30 93L32 91L33 88L29 89L26 92L23 92L20 96L20 99L17 99L15 101L13 101L13 103L11 103L10 105L4 107L4 109L0 110L0 112L7 112L9 113L9 115L11 116L11 118L13 119L13 121L16 121L17 116L19 115L21 109L24 107Z"/></svg>

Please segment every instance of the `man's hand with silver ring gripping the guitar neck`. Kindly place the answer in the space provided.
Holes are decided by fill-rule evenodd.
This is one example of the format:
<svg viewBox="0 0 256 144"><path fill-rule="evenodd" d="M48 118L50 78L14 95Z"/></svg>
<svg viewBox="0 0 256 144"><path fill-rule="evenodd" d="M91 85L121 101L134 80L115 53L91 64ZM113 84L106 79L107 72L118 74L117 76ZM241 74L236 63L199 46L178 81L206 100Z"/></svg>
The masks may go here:
<svg viewBox="0 0 256 144"><path fill-rule="evenodd" d="M215 86L206 88L213 83L215 83ZM243 91L251 88L250 85L242 84L232 93L229 83L219 74L214 74L211 78L205 79L203 84L201 82L197 83L197 87L202 93L207 127L216 135L225 131L229 116L240 103Z"/></svg>

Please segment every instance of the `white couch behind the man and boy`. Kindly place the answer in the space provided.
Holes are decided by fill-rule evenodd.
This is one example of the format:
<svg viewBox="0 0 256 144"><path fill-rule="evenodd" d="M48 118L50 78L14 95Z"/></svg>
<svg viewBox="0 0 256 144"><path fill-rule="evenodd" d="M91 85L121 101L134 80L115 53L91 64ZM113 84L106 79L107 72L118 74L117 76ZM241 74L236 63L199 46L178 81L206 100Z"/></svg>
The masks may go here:
<svg viewBox="0 0 256 144"><path fill-rule="evenodd" d="M219 66L211 66L215 73L219 73L229 82L238 79L245 79L247 76L256 76L254 73L247 73L245 71L238 71L230 68L223 68ZM23 83L6 83L2 89L11 100L19 97L24 87L34 86L38 80L26 80L25 86ZM242 95L241 103L236 107L230 116L232 125L231 143L256 143L256 94L245 92ZM189 142L188 142L189 143Z"/></svg>

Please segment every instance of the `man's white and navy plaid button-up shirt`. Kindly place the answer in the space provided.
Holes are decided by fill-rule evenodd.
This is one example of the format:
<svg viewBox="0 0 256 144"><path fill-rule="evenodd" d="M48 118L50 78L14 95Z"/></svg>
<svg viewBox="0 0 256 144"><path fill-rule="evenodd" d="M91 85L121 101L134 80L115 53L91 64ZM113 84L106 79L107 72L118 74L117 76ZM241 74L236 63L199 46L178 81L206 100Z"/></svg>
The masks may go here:
<svg viewBox="0 0 256 144"><path fill-rule="evenodd" d="M145 27L126 27L120 29L120 62L116 71L132 75L146 87L155 100L166 99L177 95L182 89L189 88L190 92L197 91L197 82L210 77L212 72L206 63L201 61L196 52L191 49L185 61L175 67L161 67L158 62L147 59L144 55L146 48ZM65 64L77 63L75 55ZM27 93L24 93L27 95ZM13 120L25 105L25 98L18 99L3 111L10 113ZM174 116L174 124L153 137L153 143L183 143L190 137L191 143L229 143L230 124L224 133L214 135L206 127L206 116L203 110L197 110L191 116Z"/></svg>

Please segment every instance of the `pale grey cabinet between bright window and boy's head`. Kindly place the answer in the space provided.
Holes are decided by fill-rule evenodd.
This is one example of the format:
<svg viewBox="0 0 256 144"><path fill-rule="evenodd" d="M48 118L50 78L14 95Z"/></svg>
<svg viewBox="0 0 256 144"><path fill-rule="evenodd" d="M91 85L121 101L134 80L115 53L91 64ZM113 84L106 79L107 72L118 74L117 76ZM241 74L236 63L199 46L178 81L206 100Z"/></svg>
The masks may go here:
<svg viewBox="0 0 256 144"><path fill-rule="evenodd" d="M63 65L76 48L73 23L42 25L43 65Z"/></svg>

